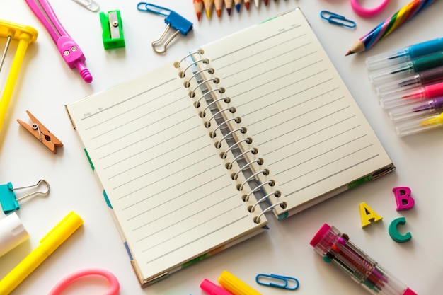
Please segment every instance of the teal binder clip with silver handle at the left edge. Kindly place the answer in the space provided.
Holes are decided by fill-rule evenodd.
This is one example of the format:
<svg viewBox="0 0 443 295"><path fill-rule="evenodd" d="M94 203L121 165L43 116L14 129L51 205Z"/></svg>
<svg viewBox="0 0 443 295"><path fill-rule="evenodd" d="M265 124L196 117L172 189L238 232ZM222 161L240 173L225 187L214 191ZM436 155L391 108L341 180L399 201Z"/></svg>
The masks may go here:
<svg viewBox="0 0 443 295"><path fill-rule="evenodd" d="M39 187L42 183L44 183L47 187L46 191L36 191L36 192L32 192L28 195L25 195L23 197L20 198L16 198L16 193L14 192L14 190L22 190L25 188L29 188L29 187ZM13 188L12 183L7 183L6 185L0 185L0 205L1 205L1 209L3 209L3 212L5 215L8 215L11 212L14 212L18 209L20 209L20 205L18 204L18 202L22 201L23 199L26 199L28 197L32 197L33 195L47 195L48 192L50 192L50 184L47 183L46 180L38 180L38 183L36 185L28 185L26 187L16 187Z"/></svg>

